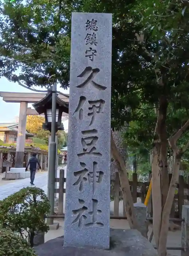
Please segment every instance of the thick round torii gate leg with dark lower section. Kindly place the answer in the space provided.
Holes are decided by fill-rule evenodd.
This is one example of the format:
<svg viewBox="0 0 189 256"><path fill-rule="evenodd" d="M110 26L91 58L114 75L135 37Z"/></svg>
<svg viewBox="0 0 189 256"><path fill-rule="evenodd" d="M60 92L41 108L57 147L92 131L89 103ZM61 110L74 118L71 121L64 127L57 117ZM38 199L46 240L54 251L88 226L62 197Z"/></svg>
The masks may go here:
<svg viewBox="0 0 189 256"><path fill-rule="evenodd" d="M15 156L15 168L23 167L27 107L28 107L27 102L25 102L25 101L20 102L18 136L17 136L17 143L16 143L16 156Z"/></svg>

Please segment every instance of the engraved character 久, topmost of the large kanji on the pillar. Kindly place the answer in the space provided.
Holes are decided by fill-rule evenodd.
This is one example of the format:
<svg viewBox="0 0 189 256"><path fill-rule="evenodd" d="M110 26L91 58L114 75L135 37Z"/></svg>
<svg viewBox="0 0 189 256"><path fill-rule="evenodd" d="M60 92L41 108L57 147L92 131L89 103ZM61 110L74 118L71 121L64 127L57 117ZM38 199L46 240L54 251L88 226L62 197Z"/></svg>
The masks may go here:
<svg viewBox="0 0 189 256"><path fill-rule="evenodd" d="M86 67L84 69L84 71L80 75L78 75L77 77L79 77L79 78L86 77L86 76L88 76L88 77L86 78L86 80L83 83L79 84L76 87L77 88L82 88L82 87L85 87L87 84L92 83L92 85L94 87L96 87L97 89L102 90L102 91L106 90L107 87L105 87L101 84L95 83L92 80L99 72L100 72L99 68L92 68L90 66Z"/></svg>

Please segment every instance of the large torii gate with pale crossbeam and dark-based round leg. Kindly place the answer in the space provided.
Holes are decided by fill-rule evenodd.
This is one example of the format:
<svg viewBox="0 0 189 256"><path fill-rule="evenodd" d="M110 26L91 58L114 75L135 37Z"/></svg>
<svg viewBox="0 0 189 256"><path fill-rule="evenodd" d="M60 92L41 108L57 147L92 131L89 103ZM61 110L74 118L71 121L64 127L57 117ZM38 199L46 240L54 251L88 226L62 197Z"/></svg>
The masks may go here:
<svg viewBox="0 0 189 256"><path fill-rule="evenodd" d="M15 156L15 167L17 168L23 167L27 115L39 115L35 111L35 109L28 108L28 103L38 102L45 96L46 93L10 93L4 91L0 92L0 97L3 97L3 101L9 103L20 103L18 135ZM64 102L69 102L69 98L62 94L59 94L58 97L62 99ZM62 116L66 117L68 116L68 114L62 113Z"/></svg>

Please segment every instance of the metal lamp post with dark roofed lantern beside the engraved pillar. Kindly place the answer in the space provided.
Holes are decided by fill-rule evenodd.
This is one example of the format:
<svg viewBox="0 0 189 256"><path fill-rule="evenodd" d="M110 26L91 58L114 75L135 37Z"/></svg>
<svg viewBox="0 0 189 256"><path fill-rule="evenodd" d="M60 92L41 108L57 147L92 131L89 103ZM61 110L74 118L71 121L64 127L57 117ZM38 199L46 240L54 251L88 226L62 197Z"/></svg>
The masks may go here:
<svg viewBox="0 0 189 256"><path fill-rule="evenodd" d="M55 199L55 178L56 178L56 132L64 130L62 124L62 113L68 113L68 103L62 101L56 95L56 83L52 90L39 102L32 105L35 110L45 116L43 129L51 132L51 143L49 146L49 166L48 166L48 199L50 201L50 215L54 215L54 199ZM48 224L53 224L53 219L48 220Z"/></svg>

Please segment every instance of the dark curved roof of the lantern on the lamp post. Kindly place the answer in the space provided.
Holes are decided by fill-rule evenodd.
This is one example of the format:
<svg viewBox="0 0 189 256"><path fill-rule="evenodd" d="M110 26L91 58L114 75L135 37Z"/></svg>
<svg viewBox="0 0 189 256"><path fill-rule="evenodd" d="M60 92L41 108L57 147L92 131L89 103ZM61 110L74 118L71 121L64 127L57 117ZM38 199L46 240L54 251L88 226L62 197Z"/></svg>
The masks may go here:
<svg viewBox="0 0 189 256"><path fill-rule="evenodd" d="M47 109L52 108L52 93L52 91L49 91L43 99L32 105L39 114L43 114ZM69 103L56 96L56 109L68 114Z"/></svg>

